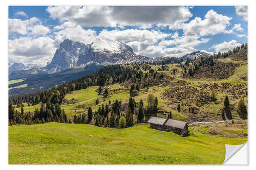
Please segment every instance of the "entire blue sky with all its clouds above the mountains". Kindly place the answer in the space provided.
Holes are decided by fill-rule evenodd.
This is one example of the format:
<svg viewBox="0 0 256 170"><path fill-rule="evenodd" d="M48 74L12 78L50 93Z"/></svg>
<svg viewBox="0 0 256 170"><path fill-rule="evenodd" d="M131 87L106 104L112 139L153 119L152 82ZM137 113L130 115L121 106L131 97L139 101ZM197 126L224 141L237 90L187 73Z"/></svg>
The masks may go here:
<svg viewBox="0 0 256 170"><path fill-rule="evenodd" d="M9 62L50 62L69 38L123 41L139 55L182 57L247 43L246 6L9 6Z"/></svg>

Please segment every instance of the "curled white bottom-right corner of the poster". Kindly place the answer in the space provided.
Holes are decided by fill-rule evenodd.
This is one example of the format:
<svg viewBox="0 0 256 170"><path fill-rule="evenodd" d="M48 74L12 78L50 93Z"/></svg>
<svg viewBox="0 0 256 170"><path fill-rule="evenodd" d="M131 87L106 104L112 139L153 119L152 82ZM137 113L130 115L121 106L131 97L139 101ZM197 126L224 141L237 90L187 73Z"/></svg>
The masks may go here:
<svg viewBox="0 0 256 170"><path fill-rule="evenodd" d="M238 145L226 144L225 165L248 164L248 142Z"/></svg>

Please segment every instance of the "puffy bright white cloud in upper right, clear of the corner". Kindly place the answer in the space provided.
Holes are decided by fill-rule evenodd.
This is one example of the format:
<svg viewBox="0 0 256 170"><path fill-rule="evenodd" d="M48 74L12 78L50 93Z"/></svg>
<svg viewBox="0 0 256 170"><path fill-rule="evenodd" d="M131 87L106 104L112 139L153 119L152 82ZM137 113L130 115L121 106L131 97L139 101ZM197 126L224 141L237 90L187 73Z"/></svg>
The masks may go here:
<svg viewBox="0 0 256 170"><path fill-rule="evenodd" d="M226 30L226 27L230 25L229 20L231 19L231 17L218 14L214 10L209 10L203 20L200 17L196 17L188 23L182 23L175 29L182 28L185 35L216 35Z"/></svg>

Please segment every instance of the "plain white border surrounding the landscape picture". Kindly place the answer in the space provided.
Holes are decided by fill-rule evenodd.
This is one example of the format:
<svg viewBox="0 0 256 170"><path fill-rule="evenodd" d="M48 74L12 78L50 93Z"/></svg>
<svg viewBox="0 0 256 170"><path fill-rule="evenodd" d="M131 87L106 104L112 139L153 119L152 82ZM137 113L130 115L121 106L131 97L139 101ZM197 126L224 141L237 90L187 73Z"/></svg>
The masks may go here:
<svg viewBox="0 0 256 170"><path fill-rule="evenodd" d="M146 168L146 169L156 169L156 168L181 168L181 169L216 169L216 168L232 168L241 170L244 168L250 168L255 165L255 136L253 130L256 130L254 121L256 120L256 109L253 107L254 101L256 101L256 88L254 86L255 83L255 73L256 73L256 43L255 43L255 16L256 16L256 8L254 5L254 1L223 1L223 0L215 0L215 1L205 1L205 0L198 0L198 1L163 1L163 0L147 0L147 1L138 1L138 0L130 0L130 1L78 1L78 0L62 0L62 1L32 1L32 0L11 0L11 1L2 1L1 2L1 10L0 10L0 17L1 17L1 61L0 68L2 73L2 82L1 85L1 167L2 169L70 169L70 168L77 168L77 169L84 169L84 168L94 168L94 169L131 169L131 168ZM248 145L249 145L249 165L248 166L234 166L234 165L8 165L8 6L9 5L248 5L248 12L249 12L249 20L248 20ZM252 130L251 130L252 129ZM165 166L165 167L164 167ZM169 167L167 167L169 166Z"/></svg>

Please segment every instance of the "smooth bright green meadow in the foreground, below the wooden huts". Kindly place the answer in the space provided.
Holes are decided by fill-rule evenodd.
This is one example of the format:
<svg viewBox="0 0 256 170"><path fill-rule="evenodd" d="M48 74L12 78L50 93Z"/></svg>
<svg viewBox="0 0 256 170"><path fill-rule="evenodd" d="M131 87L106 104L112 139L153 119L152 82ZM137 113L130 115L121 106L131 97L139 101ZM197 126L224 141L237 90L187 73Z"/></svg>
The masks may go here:
<svg viewBox="0 0 256 170"><path fill-rule="evenodd" d="M190 128L181 137L137 125L125 129L47 123L9 126L9 164L222 164L223 138Z"/></svg>

